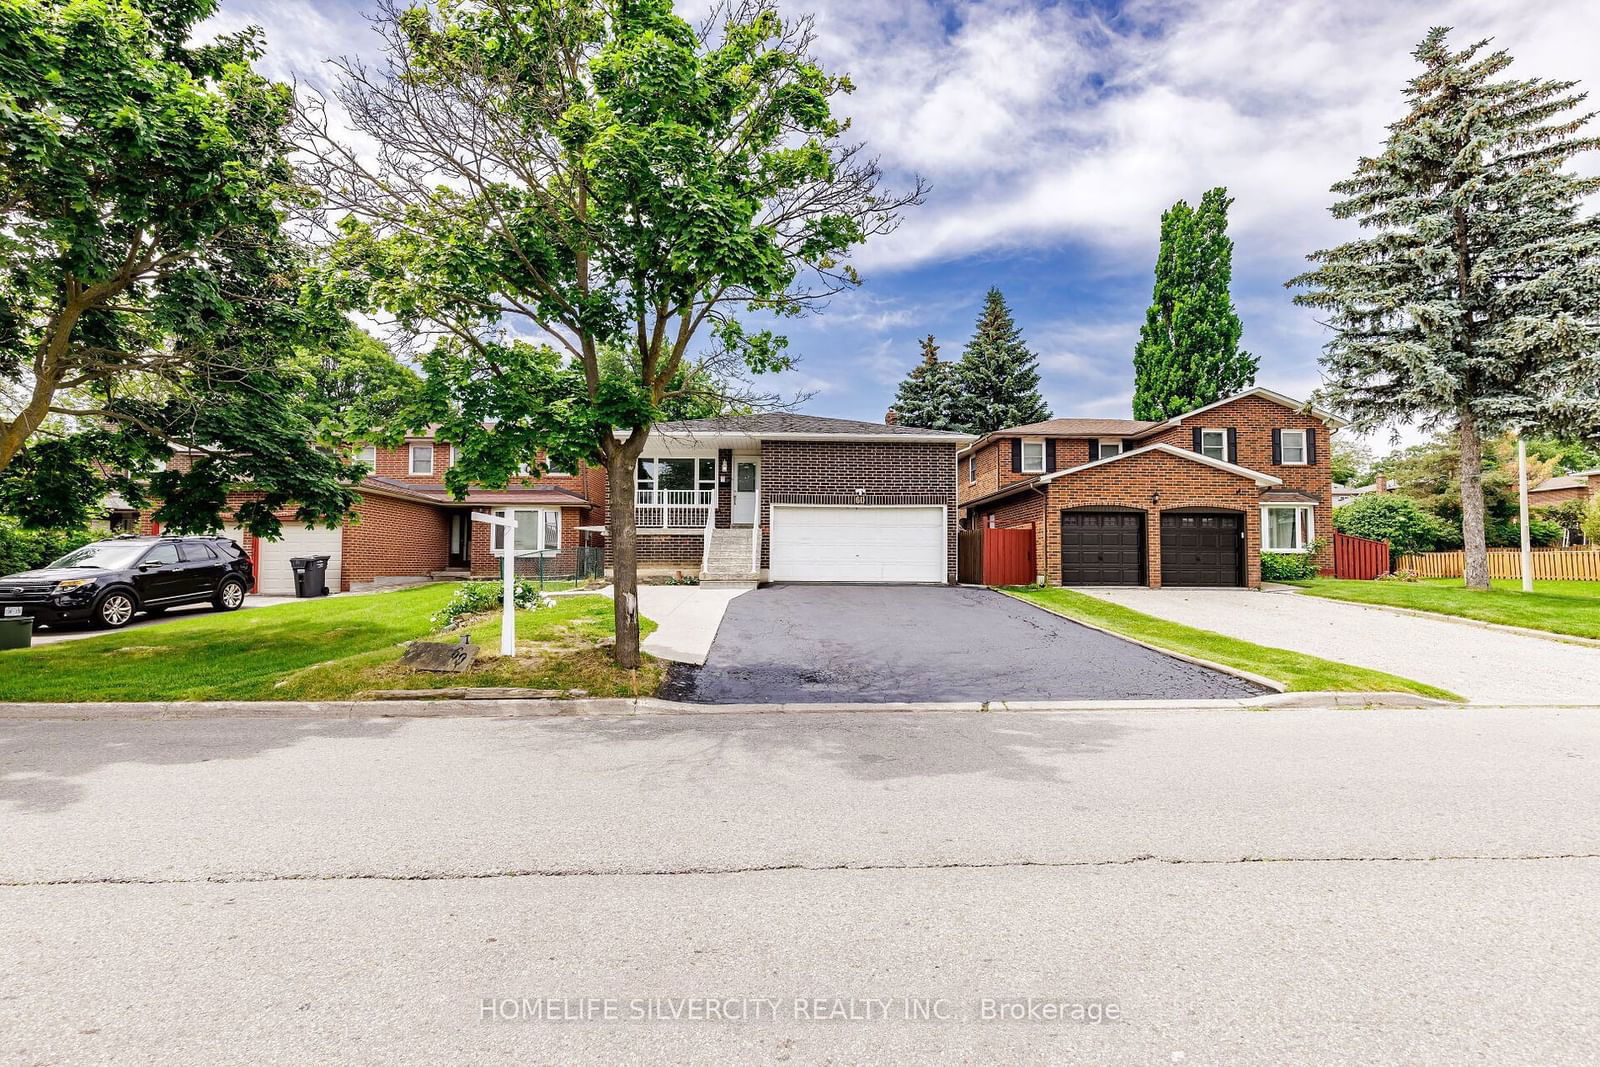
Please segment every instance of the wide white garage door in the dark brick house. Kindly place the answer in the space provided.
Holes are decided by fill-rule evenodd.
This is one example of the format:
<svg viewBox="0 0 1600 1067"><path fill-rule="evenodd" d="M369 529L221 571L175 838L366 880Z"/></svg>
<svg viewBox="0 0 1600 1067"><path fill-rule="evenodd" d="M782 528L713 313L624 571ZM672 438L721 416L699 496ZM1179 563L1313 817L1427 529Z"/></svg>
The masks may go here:
<svg viewBox="0 0 1600 1067"><path fill-rule="evenodd" d="M774 582L944 584L942 507L773 506Z"/></svg>

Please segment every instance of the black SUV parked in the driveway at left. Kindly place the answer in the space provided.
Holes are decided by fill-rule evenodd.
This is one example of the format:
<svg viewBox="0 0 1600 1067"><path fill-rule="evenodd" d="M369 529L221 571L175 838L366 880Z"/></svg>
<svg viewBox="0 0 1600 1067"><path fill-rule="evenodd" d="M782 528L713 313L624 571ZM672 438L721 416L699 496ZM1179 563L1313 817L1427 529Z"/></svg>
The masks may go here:
<svg viewBox="0 0 1600 1067"><path fill-rule="evenodd" d="M218 611L234 611L253 584L250 557L227 537L122 536L74 549L37 571L0 577L0 617L117 629L138 611L160 614L206 600Z"/></svg>

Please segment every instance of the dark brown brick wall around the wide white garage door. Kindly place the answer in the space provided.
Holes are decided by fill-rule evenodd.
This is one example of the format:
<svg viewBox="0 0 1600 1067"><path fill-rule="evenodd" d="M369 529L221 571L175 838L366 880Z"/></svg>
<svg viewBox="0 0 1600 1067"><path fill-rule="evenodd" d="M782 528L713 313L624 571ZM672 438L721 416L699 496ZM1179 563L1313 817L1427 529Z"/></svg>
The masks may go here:
<svg viewBox="0 0 1600 1067"><path fill-rule="evenodd" d="M955 581L955 446L926 442L762 442L762 566L771 563L771 506L942 504L947 581ZM811 499L826 498L826 499Z"/></svg>

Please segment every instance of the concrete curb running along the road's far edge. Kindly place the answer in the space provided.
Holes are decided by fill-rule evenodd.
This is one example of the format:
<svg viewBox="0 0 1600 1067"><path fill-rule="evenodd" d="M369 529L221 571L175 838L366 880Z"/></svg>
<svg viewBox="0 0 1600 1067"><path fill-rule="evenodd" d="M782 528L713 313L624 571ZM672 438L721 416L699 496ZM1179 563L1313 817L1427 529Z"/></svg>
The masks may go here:
<svg viewBox="0 0 1600 1067"><path fill-rule="evenodd" d="M158 704L0 704L0 721L192 718L598 718L643 715L883 715L1418 709L1458 707L1410 693L1272 693L1234 701L944 701L926 704L686 704L654 697L578 701L192 701Z"/></svg>

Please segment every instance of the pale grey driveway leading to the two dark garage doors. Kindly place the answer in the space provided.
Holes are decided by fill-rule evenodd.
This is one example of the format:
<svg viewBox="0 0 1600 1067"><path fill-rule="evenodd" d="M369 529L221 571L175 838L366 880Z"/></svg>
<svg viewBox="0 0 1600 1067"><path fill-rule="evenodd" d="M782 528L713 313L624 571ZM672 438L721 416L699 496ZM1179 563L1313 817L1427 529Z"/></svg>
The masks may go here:
<svg viewBox="0 0 1600 1067"><path fill-rule="evenodd" d="M1082 589L1162 619L1443 686L1474 704L1597 704L1600 648L1243 589Z"/></svg>

